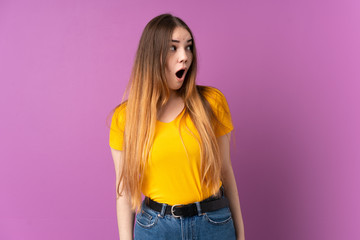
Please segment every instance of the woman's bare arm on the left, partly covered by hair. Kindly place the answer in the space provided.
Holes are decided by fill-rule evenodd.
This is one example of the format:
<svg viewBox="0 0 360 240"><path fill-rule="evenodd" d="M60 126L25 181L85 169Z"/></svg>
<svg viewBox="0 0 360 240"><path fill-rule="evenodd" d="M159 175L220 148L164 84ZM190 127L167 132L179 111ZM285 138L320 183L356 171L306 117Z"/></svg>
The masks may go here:
<svg viewBox="0 0 360 240"><path fill-rule="evenodd" d="M111 149L116 173L116 186L120 178L120 168L122 167L122 151ZM120 183L121 185L121 183ZM133 239L134 232L134 212L131 210L130 197L124 193L116 199L116 215L121 240Z"/></svg>

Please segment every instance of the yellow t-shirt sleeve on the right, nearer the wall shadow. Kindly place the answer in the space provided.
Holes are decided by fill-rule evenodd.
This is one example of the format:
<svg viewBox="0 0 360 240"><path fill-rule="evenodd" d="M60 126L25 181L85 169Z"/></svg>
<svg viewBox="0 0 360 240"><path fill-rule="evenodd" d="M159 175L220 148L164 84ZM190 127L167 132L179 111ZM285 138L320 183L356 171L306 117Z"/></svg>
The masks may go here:
<svg viewBox="0 0 360 240"><path fill-rule="evenodd" d="M217 121L214 124L214 131L216 137L223 136L234 129L229 105L226 98L220 90L216 88L210 88L210 91L205 95L208 100L213 113L215 114Z"/></svg>

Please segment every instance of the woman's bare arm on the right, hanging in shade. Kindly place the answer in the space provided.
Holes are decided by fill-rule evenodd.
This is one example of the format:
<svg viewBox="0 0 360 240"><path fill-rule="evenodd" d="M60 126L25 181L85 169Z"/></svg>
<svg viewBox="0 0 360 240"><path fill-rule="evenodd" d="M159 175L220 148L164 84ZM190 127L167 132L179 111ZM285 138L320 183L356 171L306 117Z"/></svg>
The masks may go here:
<svg viewBox="0 0 360 240"><path fill-rule="evenodd" d="M222 181L225 195L230 202L230 210L234 220L236 238L245 240L244 223L241 215L239 195L236 186L234 171L230 160L230 133L218 138L220 154L223 162Z"/></svg>

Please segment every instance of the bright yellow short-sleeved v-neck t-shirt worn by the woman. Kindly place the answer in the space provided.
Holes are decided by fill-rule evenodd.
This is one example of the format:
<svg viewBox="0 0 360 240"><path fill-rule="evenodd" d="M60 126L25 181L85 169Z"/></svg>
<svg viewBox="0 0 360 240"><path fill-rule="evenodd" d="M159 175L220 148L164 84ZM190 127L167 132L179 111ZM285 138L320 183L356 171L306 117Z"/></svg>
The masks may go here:
<svg viewBox="0 0 360 240"><path fill-rule="evenodd" d="M230 110L224 95L215 88L209 88L205 98L221 124L214 124L217 137L232 131ZM110 147L122 150L125 128L124 105L116 108L111 128ZM142 193L160 203L188 204L210 197L209 189L201 184L200 145L197 132L189 116L186 126L180 127L184 110L171 122L157 121L154 142L145 168ZM221 181L219 179L219 187Z"/></svg>

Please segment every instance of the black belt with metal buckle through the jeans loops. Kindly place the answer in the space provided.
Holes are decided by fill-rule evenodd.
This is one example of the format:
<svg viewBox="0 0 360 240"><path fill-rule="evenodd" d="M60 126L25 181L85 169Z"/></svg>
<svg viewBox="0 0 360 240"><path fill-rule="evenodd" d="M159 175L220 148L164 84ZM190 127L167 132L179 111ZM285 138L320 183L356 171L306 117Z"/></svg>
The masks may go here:
<svg viewBox="0 0 360 240"><path fill-rule="evenodd" d="M162 203L155 202L154 200L151 200L148 197L145 197L145 204L146 206L157 212L161 212L163 207ZM200 204L201 213L205 213L205 212L216 211L224 207L228 207L229 201L226 197L220 197L220 198L210 197L199 202L199 204ZM172 206L167 205L164 214L171 214L174 217L191 217L198 215L199 212L196 203L191 203L186 205L184 204L176 204Z"/></svg>

